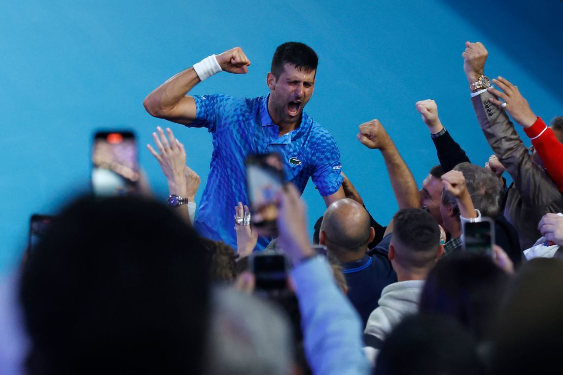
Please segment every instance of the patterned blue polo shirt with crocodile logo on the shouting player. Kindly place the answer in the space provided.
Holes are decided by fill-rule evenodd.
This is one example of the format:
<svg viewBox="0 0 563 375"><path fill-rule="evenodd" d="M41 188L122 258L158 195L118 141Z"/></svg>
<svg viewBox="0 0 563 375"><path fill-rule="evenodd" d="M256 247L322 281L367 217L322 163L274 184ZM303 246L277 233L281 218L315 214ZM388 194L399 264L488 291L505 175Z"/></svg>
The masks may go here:
<svg viewBox="0 0 563 375"><path fill-rule="evenodd" d="M194 223L202 236L236 249L235 206L239 201L248 205L247 155L278 152L287 179L301 192L309 177L321 196L336 193L342 185L340 152L334 138L305 112L298 128L278 137L278 125L268 113L268 97L213 94L193 98L197 111L189 126L205 127L213 135L209 176ZM257 249L265 249L269 242L270 238L258 238Z"/></svg>

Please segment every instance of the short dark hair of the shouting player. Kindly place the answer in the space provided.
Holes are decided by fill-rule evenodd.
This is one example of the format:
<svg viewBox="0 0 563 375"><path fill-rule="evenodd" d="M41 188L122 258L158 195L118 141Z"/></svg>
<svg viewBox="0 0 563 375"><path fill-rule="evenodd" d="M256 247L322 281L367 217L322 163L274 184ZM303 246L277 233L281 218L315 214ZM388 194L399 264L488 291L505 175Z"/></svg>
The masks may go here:
<svg viewBox="0 0 563 375"><path fill-rule="evenodd" d="M286 42L276 48L272 57L271 73L276 81L280 78L285 64L291 64L297 69L316 70L319 57L307 44L300 42Z"/></svg>

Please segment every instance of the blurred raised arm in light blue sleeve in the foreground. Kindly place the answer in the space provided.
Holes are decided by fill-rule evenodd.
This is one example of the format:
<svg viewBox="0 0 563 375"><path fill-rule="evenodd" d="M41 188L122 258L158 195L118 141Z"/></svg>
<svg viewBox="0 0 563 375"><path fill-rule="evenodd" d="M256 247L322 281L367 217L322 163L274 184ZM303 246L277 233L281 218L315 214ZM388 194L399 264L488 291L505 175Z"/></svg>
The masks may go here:
<svg viewBox="0 0 563 375"><path fill-rule="evenodd" d="M334 282L324 256L309 242L305 204L289 184L279 195L278 245L291 259L299 301L305 354L315 374L363 375L369 365L362 351L360 317Z"/></svg>

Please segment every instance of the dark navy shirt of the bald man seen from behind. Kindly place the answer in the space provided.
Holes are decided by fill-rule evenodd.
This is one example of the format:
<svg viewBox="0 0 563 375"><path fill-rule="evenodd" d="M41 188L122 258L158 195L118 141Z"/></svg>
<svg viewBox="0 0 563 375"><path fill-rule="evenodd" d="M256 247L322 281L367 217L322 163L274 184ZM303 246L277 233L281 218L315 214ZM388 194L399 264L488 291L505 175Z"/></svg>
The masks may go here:
<svg viewBox="0 0 563 375"><path fill-rule="evenodd" d="M348 300L360 314L364 327L369 315L379 306L383 288L397 282L397 274L387 255L375 249L369 253L371 255L366 254L358 261L342 263Z"/></svg>

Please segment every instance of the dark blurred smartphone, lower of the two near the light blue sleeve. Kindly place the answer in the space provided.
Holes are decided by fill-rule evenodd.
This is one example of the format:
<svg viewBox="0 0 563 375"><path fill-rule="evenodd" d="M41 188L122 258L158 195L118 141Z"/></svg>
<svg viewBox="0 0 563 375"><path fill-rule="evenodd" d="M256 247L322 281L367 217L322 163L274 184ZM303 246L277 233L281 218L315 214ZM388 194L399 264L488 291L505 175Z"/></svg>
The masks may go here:
<svg viewBox="0 0 563 375"><path fill-rule="evenodd" d="M287 289L289 263L285 255L274 251L253 252L249 263L256 277L256 289L262 291Z"/></svg>

